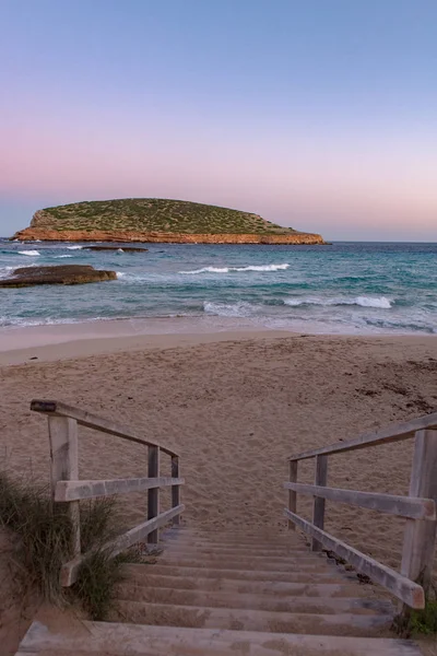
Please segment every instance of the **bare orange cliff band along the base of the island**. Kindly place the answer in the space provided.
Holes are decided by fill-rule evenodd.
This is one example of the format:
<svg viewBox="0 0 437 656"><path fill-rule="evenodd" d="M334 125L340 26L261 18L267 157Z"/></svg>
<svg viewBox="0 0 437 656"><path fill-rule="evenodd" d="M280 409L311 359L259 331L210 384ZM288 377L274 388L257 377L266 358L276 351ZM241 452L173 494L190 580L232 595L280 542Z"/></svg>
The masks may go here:
<svg viewBox="0 0 437 656"><path fill-rule="evenodd" d="M39 223L40 225L40 223ZM138 242L156 244L326 244L321 235L293 232L288 234L187 234L170 232L79 231L26 227L12 237L22 242Z"/></svg>

